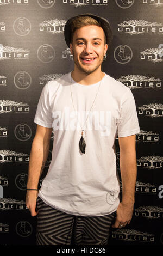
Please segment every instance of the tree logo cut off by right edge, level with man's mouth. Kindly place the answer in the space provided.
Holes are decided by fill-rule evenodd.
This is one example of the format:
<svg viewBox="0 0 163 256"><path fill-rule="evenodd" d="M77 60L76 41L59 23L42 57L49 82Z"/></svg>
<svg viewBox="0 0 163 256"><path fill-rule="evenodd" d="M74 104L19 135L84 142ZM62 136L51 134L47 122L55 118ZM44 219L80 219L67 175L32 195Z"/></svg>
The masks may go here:
<svg viewBox="0 0 163 256"><path fill-rule="evenodd" d="M163 54L162 54L161 47L149 48L140 53L141 53L140 59L145 59L154 63L163 61Z"/></svg>

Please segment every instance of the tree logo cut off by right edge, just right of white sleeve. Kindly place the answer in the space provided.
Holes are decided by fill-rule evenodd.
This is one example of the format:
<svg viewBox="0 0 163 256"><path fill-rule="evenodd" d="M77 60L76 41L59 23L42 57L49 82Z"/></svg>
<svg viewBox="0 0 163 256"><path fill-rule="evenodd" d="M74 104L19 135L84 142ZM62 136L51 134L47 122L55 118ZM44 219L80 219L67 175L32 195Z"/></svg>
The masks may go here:
<svg viewBox="0 0 163 256"><path fill-rule="evenodd" d="M139 107L138 114L146 115L146 117L158 118L163 117L163 104L161 103L151 103L145 104Z"/></svg>

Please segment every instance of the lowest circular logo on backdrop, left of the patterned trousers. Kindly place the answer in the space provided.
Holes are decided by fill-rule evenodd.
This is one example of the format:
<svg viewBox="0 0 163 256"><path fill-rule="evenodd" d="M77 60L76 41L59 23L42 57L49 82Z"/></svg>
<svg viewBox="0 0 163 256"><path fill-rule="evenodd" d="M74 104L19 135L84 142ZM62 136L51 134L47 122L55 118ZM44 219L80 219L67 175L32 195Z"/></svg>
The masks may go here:
<svg viewBox="0 0 163 256"><path fill-rule="evenodd" d="M16 233L19 236L27 237L32 234L32 225L27 221L20 221L16 224Z"/></svg>

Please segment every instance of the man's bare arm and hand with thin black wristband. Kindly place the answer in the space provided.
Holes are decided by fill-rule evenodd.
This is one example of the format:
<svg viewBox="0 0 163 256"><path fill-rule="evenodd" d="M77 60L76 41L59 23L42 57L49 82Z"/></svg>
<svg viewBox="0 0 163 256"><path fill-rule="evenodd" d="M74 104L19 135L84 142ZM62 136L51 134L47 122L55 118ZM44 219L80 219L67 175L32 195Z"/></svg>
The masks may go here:
<svg viewBox="0 0 163 256"><path fill-rule="evenodd" d="M37 189L39 179L47 161L52 128L37 125L37 130L30 151L27 189ZM38 191L27 190L26 205L32 216L36 216L36 199Z"/></svg>

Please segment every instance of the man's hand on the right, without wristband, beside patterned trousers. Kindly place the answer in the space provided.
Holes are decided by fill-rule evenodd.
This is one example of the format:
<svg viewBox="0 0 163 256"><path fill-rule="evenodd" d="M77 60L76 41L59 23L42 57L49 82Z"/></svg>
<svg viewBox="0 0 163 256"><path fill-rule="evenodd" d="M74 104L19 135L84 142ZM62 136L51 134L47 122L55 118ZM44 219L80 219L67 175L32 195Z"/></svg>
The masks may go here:
<svg viewBox="0 0 163 256"><path fill-rule="evenodd" d="M112 225L112 228L122 228L130 223L131 218L133 216L133 204L123 204L120 203L118 205L116 211L116 220Z"/></svg>

